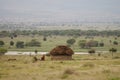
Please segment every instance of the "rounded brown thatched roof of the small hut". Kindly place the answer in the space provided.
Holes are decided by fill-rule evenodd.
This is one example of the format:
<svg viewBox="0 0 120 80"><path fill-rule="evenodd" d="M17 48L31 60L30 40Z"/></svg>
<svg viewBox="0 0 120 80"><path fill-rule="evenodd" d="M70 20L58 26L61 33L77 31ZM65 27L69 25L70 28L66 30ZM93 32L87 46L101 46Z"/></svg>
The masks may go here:
<svg viewBox="0 0 120 80"><path fill-rule="evenodd" d="M74 54L73 50L67 46L57 46L50 51L50 55L52 56L57 56L57 55L71 56L73 54Z"/></svg>

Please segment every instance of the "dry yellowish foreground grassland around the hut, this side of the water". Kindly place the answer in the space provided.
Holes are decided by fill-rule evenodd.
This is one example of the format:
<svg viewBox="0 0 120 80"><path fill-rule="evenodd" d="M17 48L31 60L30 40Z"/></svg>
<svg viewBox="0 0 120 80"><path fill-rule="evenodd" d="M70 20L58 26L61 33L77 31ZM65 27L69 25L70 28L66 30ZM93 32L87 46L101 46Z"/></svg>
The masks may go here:
<svg viewBox="0 0 120 80"><path fill-rule="evenodd" d="M40 59L41 55L36 56ZM9 59L16 59L11 60ZM33 62L33 56L0 56L0 80L120 80L120 53L73 55L73 60Z"/></svg>

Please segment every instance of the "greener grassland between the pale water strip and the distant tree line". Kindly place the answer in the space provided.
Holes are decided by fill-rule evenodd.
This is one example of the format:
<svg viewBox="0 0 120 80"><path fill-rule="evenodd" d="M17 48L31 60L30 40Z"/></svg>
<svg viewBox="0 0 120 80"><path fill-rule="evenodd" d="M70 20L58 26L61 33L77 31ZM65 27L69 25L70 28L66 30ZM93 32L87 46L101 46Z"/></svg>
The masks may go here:
<svg viewBox="0 0 120 80"><path fill-rule="evenodd" d="M54 48L55 46L58 45L67 45L67 40L68 39L75 39L75 43L74 45L71 46L71 48L75 51L75 52L87 52L88 49L83 49L80 48L80 46L78 45L78 42L80 40L86 40L86 41L90 41L90 40L95 40L98 42L103 42L104 46L103 47L92 47L93 49L95 49L96 51L109 51L110 48L116 48L117 51L120 50L120 37L117 38L117 40L115 39L115 36L109 36L109 37L101 37L101 36L94 36L93 39L91 38L85 38L86 36L48 36L46 37L47 40L43 41L43 37L44 36L39 36L39 35L35 35L35 36L22 36L19 35L18 37L11 39L10 37L4 37L4 38L0 38L0 40L5 42L5 45L3 47L7 48L8 51L34 51L35 49L37 49L40 52L49 52L52 48ZM37 41L39 41L41 43L41 47L27 47L25 46L24 48L16 48L15 44L17 41L23 41L24 43L27 43L29 41L31 41L32 39L36 39ZM111 40L111 43L110 43ZM14 46L10 46L10 41L14 42ZM117 41L118 45L114 45L113 42Z"/></svg>

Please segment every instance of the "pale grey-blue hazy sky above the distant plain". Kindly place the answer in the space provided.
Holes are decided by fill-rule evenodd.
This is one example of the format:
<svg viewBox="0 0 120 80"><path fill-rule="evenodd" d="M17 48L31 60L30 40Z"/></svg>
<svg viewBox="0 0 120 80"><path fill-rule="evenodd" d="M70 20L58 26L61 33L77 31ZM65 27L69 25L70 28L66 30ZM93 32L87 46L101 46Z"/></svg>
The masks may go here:
<svg viewBox="0 0 120 80"><path fill-rule="evenodd" d="M120 0L0 0L2 17L120 18Z"/></svg>

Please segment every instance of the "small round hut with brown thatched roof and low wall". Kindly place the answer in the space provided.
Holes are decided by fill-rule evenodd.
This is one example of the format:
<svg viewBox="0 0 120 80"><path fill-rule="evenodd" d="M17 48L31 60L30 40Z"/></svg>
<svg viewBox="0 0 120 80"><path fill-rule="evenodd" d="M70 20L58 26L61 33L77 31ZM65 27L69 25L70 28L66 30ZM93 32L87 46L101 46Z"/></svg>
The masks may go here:
<svg viewBox="0 0 120 80"><path fill-rule="evenodd" d="M50 51L51 60L72 60L73 50L67 46L57 46Z"/></svg>

